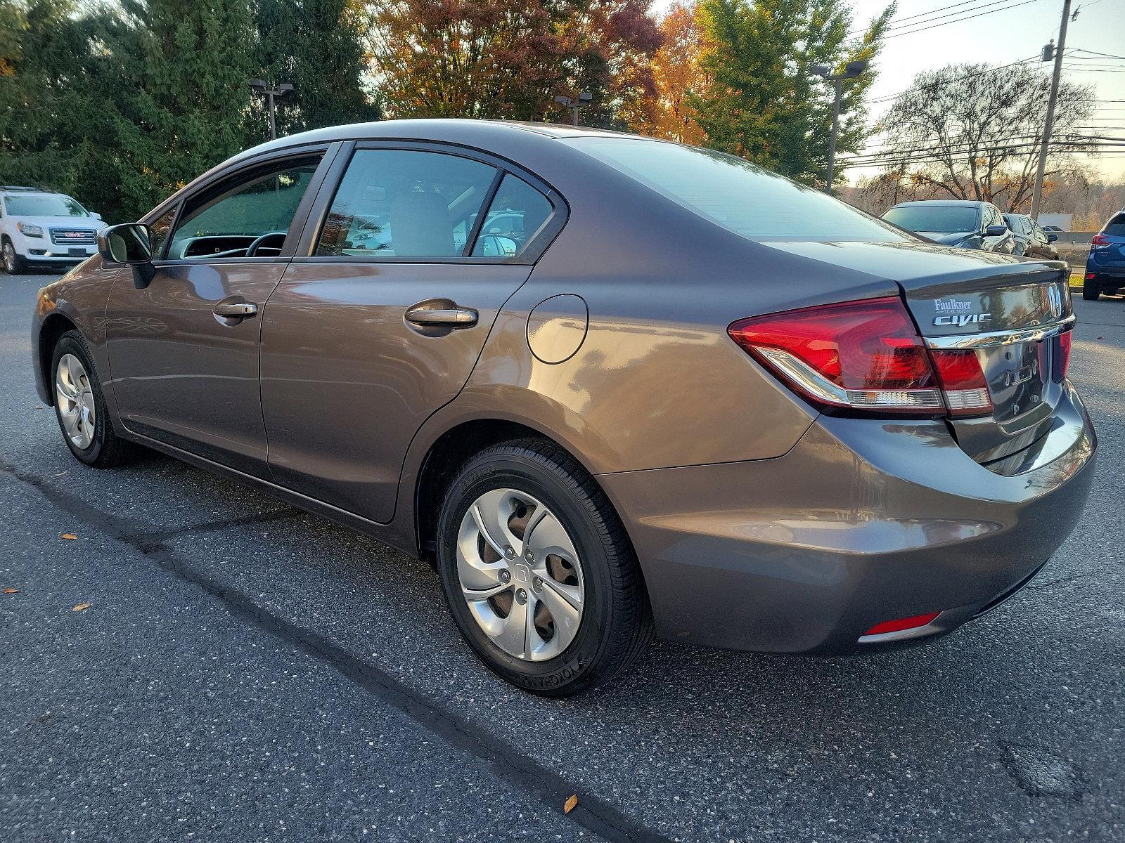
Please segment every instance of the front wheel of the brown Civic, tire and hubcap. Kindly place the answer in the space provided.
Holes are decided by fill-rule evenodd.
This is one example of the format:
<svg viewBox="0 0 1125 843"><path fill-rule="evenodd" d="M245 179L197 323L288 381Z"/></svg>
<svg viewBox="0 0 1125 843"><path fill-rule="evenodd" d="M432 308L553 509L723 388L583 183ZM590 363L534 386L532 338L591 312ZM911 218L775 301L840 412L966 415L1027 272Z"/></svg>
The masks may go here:
<svg viewBox="0 0 1125 843"><path fill-rule="evenodd" d="M55 417L71 453L96 469L126 462L134 445L114 430L93 360L78 330L68 330L58 338L51 372Z"/></svg>

